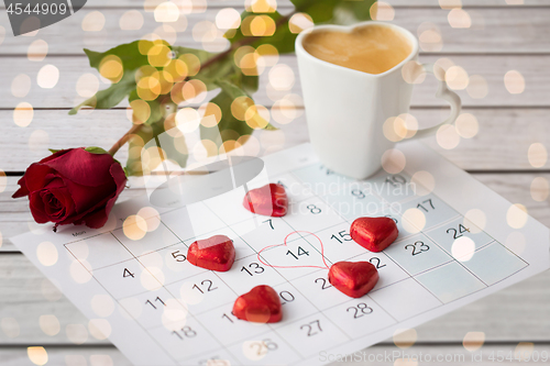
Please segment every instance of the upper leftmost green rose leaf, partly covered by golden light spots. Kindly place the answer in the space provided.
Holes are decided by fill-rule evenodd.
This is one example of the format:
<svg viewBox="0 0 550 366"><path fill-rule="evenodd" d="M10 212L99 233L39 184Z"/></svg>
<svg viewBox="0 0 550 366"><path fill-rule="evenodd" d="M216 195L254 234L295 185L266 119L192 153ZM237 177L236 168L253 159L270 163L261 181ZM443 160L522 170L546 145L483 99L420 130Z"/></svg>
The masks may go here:
<svg viewBox="0 0 550 366"><path fill-rule="evenodd" d="M140 52L139 47L140 42L142 42L142 44L143 43L148 44L148 47L153 46L153 42L141 40L141 41L134 41L132 43L118 45L117 47L106 52L95 52L87 48L84 48L84 52L88 56L90 66L97 68L98 70L99 70L99 64L101 63L103 57L109 55L114 55L120 57L120 59L122 60L122 66L124 68L124 71L135 70L144 65L148 65L147 55L142 55Z"/></svg>

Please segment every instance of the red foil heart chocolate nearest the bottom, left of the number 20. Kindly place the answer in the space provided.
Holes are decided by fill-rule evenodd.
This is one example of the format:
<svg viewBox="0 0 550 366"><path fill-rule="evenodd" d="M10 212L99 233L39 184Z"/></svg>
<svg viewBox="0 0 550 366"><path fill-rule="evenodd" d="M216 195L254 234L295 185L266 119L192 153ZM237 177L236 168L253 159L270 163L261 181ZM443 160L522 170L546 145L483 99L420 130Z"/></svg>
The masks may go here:
<svg viewBox="0 0 550 366"><path fill-rule="evenodd" d="M237 299L233 315L254 323L276 323L283 319L280 299L270 286L256 286Z"/></svg>

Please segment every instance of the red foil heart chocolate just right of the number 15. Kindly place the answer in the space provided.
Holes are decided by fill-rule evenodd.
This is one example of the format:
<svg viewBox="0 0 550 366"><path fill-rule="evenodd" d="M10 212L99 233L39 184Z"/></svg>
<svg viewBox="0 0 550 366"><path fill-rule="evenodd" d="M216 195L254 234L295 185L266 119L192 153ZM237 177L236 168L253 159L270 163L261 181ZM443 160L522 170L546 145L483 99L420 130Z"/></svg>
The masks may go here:
<svg viewBox="0 0 550 366"><path fill-rule="evenodd" d="M350 235L359 245L371 252L382 252L399 234L395 221L389 218L359 218L351 224Z"/></svg>

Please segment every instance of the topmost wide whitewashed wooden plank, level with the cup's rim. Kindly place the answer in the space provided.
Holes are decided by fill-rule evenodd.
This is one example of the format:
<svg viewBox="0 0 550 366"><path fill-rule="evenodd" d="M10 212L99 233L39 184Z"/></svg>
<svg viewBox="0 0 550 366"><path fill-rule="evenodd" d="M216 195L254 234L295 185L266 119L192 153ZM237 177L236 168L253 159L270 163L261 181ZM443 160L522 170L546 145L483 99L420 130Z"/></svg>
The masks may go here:
<svg viewBox="0 0 550 366"><path fill-rule="evenodd" d="M145 34L156 32L161 23L155 22L152 12L139 10L143 14L144 25L139 31L121 31L119 21L128 9L94 10L84 8L63 22L53 24L37 32L35 36L11 37L3 40L0 46L2 55L25 55L29 45L37 40L48 44L48 54L79 54L82 47L107 49L121 43L132 42ZM200 46L193 37L191 30L202 21L215 22L219 9L208 9L204 13L185 16L187 29L177 34L177 45ZM292 8L279 8L282 13ZM91 12L101 12L105 26L97 32L82 31L82 20ZM435 24L441 32L442 48L429 48L430 52L447 53L548 53L550 44L546 42L550 7L543 8L480 8L469 10L472 25L470 29L451 27L448 10L439 8L402 8L395 10L394 23L414 34L425 23ZM96 13L95 13L96 14ZM184 19L182 16L182 19ZM419 21L421 20L421 22ZM185 21L182 20L182 24ZM420 24L421 23L421 24ZM0 15L0 25L10 29L7 15ZM110 36L117 34L117 36ZM63 42L59 42L62 40ZM216 44L223 46L223 42Z"/></svg>

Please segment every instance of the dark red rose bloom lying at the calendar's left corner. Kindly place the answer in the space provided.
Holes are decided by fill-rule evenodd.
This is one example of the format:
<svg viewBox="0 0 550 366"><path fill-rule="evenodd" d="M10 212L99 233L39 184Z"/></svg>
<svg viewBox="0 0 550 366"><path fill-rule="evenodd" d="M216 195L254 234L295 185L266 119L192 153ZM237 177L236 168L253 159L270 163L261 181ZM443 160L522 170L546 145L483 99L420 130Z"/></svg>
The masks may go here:
<svg viewBox="0 0 550 366"><path fill-rule="evenodd" d="M74 223L105 225L127 176L120 164L98 147L62 149L33 163L19 180L13 198L29 196L37 223L55 228Z"/></svg>

